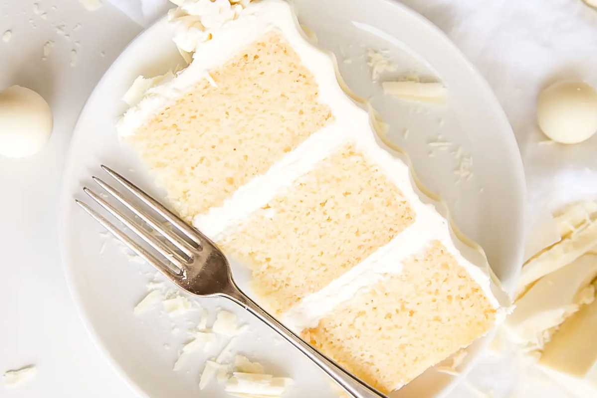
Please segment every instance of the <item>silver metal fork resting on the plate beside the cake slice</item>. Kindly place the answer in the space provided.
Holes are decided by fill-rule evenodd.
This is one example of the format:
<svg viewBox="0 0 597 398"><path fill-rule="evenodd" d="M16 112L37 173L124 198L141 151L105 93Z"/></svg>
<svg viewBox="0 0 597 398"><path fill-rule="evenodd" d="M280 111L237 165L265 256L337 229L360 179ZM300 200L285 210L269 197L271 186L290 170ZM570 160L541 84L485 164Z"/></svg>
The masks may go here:
<svg viewBox="0 0 597 398"><path fill-rule="evenodd" d="M245 310L265 322L267 326L278 332L278 334L284 337L290 344L294 345L294 347L298 348L301 353L312 360L319 366L319 368L340 384L340 386L351 396L355 398L387 398L384 394L381 394L375 388L365 384L337 365L336 362L324 356L324 354L306 343L294 334L294 332L290 331L290 329L286 328L273 316L264 311L263 308L258 306L253 300L247 297L247 295L236 286L228 260L226 260L224 254L207 236L184 223L184 221L177 217L173 212L166 209L157 200L151 198L133 183L122 177L122 175L104 165L102 165L101 168L128 191L133 193L134 196L139 198L141 202L152 209L153 212L167 221L168 226L165 226L154 215L150 214L150 212L147 212L139 205L136 205L125 198L125 196L118 192L118 190L104 183L100 178L92 177L103 190L112 195L113 198L122 203L122 205L136 214L141 220L147 223L153 230L158 232L169 242L168 244L163 240L158 239L158 237L150 233L146 227L142 226L141 223L134 221L129 215L124 214L124 212L110 205L110 203L92 190L83 187L84 192L87 193L91 199L99 203L99 205L106 209L107 212L116 217L144 240L144 242L155 249L161 255L161 258L156 257L146 248L143 248L143 246L127 236L127 234L118 229L114 224L110 223L110 221L98 212L94 211L94 209L86 203L75 199L75 202L78 203L78 205L114 236L121 240L121 242L127 245L128 248L144 258L147 263L158 269L184 291L201 297L225 297L234 301L236 304L239 304L239 306L245 308ZM179 233L175 233L174 230Z"/></svg>

